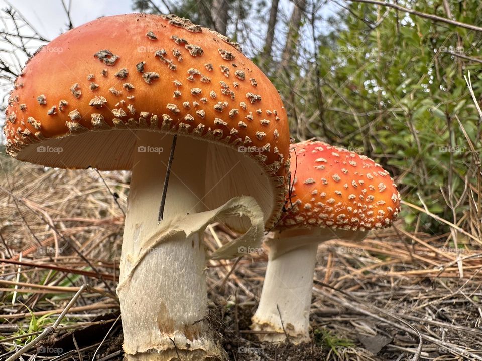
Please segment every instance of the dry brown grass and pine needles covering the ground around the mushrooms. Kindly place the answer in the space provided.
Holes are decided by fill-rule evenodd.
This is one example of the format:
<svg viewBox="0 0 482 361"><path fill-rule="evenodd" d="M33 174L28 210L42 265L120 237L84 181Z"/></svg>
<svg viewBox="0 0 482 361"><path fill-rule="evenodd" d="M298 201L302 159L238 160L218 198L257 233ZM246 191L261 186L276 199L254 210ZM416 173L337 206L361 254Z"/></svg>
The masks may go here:
<svg viewBox="0 0 482 361"><path fill-rule="evenodd" d="M57 332L23 357L86 360L98 348L97 359L121 359L114 290L129 174L102 173L109 191L95 170L0 160L2 358L52 325L87 284ZM118 203L110 192L119 195ZM234 236L222 225L206 230L210 249ZM459 237L459 252L449 240L449 234L412 234L398 223L360 243L321 245L308 353L282 345L272 357L271 346L258 344L249 330L265 253L209 262L213 323L236 361L284 360L288 354L327 360L482 359L482 253L469 237Z"/></svg>

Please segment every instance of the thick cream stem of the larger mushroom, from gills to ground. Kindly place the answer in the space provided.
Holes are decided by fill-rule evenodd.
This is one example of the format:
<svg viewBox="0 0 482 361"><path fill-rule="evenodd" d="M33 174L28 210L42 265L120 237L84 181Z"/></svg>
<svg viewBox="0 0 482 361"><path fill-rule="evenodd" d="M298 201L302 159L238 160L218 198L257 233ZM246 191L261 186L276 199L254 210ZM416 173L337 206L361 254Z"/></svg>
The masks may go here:
<svg viewBox="0 0 482 361"><path fill-rule="evenodd" d="M137 131L117 293L128 360L222 360L207 315L202 233L170 233L176 216L204 210L207 143L180 137L159 223L160 191L169 151L162 135ZM189 146L186 143L189 142ZM163 151L166 150L166 151ZM154 242L160 228L165 231ZM146 249L148 252L146 252Z"/></svg>

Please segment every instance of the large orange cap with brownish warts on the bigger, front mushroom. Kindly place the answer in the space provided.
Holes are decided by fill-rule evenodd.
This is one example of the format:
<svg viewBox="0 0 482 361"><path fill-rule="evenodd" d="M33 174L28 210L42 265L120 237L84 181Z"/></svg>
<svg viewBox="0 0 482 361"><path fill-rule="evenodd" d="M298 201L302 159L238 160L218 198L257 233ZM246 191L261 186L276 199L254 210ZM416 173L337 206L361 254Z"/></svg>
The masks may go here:
<svg viewBox="0 0 482 361"><path fill-rule="evenodd" d="M7 152L46 166L130 169L133 142L119 145L115 131L94 137L117 129L244 147L273 186L272 223L282 207L289 127L277 90L235 43L186 19L103 17L60 35L27 62L6 117ZM78 134L82 141L70 140ZM105 151L83 156L93 142ZM39 145L64 153L49 156Z"/></svg>

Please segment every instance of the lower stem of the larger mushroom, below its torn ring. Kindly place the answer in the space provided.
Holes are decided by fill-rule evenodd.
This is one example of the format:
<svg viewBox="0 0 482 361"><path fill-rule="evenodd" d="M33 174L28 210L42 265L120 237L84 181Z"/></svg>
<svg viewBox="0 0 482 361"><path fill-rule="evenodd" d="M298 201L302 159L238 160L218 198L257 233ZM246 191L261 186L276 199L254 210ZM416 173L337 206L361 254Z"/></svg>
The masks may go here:
<svg viewBox="0 0 482 361"><path fill-rule="evenodd" d="M225 360L206 321L205 253L199 234L163 242L118 289L127 360Z"/></svg>

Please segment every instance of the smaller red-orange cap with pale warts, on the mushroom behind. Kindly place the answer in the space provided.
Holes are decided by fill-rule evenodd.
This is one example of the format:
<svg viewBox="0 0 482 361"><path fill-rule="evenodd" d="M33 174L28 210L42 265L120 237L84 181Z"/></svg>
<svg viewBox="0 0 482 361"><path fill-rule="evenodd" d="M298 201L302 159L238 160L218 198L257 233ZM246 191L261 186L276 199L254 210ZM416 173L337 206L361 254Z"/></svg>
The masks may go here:
<svg viewBox="0 0 482 361"><path fill-rule="evenodd" d="M397 185L365 155L307 140L292 146L291 157L294 186L278 230L365 231L390 226L400 212Z"/></svg>

